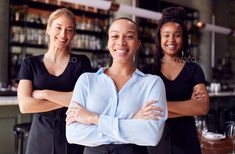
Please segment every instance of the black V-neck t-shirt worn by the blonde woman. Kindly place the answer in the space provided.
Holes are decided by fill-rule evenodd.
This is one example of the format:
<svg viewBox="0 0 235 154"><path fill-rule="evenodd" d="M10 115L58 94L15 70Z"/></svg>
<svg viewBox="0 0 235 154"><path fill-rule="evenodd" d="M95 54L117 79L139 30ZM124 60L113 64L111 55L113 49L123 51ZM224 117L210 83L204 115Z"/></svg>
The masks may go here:
<svg viewBox="0 0 235 154"><path fill-rule="evenodd" d="M90 61L86 56L71 54L64 72L54 76L47 71L43 57L44 55L25 58L17 77L18 80L31 80L34 90L72 91L78 77L83 72L91 71Z"/></svg>

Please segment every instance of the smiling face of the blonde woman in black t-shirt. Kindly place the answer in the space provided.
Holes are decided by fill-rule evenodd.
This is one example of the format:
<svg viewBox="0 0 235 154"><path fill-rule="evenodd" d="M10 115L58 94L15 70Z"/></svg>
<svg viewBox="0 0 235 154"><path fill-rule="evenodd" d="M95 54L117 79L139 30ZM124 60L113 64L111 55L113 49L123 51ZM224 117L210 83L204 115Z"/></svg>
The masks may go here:
<svg viewBox="0 0 235 154"><path fill-rule="evenodd" d="M69 48L71 40L75 34L74 29L74 22L68 16L61 15L54 19L54 21L47 27L50 46L60 49Z"/></svg>

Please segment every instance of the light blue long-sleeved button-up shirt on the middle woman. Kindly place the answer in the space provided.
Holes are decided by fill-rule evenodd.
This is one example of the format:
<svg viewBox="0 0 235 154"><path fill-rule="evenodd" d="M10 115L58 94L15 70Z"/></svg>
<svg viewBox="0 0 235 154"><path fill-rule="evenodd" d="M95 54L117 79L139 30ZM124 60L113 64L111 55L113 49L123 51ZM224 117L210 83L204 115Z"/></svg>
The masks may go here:
<svg viewBox="0 0 235 154"><path fill-rule="evenodd" d="M74 88L70 106L80 103L87 110L100 115L98 125L74 122L66 126L69 143L85 146L103 144L137 144L155 146L162 135L167 119L165 86L156 75L144 74L138 69L120 91L104 73L82 74ZM132 119L149 100L158 100L163 110L159 120Z"/></svg>

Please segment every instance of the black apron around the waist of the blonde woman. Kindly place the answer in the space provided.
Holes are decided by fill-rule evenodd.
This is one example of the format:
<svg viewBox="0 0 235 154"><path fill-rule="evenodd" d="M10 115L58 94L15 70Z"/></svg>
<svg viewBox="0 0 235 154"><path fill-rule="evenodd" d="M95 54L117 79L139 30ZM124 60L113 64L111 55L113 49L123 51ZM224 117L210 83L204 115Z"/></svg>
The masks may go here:
<svg viewBox="0 0 235 154"><path fill-rule="evenodd" d="M65 112L62 108L34 115L26 154L82 154L83 147L68 144L65 136Z"/></svg>

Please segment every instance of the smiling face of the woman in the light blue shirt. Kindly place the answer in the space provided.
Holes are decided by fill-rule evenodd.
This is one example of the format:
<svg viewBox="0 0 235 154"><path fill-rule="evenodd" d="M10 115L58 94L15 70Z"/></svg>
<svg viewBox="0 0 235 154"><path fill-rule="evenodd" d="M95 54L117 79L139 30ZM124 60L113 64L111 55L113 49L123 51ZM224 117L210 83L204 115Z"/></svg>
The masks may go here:
<svg viewBox="0 0 235 154"><path fill-rule="evenodd" d="M118 19L111 24L108 48L114 63L133 63L140 46L137 33L136 25L127 19Z"/></svg>

